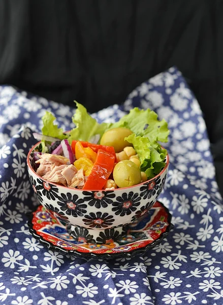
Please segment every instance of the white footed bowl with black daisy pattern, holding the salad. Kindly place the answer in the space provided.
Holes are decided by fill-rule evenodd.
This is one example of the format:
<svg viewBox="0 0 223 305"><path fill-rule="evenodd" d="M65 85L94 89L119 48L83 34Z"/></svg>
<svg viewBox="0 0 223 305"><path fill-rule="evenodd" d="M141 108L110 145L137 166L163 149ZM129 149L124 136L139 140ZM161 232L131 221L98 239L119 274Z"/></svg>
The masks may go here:
<svg viewBox="0 0 223 305"><path fill-rule="evenodd" d="M36 173L33 152L39 144L32 147L27 156L31 186L39 202L67 224L68 232L78 241L115 242L126 235L130 223L148 212L164 188L168 155L166 166L158 175L133 187L86 191L56 185Z"/></svg>

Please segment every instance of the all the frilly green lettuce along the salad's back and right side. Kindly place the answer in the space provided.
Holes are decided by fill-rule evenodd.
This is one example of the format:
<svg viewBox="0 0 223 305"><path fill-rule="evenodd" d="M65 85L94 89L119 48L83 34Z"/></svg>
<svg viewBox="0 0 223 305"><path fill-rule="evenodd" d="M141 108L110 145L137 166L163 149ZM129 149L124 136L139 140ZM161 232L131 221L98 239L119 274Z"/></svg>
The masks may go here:
<svg viewBox="0 0 223 305"><path fill-rule="evenodd" d="M158 141L167 142L169 130L167 122L164 119L158 120L157 114L154 111L134 108L129 114L124 115L114 124L99 124L97 120L87 113L83 105L77 102L75 103L77 109L72 118L75 128L70 133L65 135L61 128L54 125L55 117L48 111L42 118L44 124L42 133L58 139L68 137L69 143L71 144L73 140L89 142L95 135L99 135L101 138L104 132L112 128L129 128L133 134L127 137L126 140L132 143L136 149L141 162L140 168L146 173L148 178L154 177L165 167L164 161L167 151L161 147Z"/></svg>

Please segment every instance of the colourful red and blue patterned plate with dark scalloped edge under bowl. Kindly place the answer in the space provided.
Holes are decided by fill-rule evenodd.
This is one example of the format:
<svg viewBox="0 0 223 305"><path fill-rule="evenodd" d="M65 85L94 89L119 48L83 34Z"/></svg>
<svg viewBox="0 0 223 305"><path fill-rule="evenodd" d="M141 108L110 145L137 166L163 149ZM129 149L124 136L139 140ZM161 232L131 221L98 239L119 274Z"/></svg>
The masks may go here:
<svg viewBox="0 0 223 305"><path fill-rule="evenodd" d="M169 210L159 201L129 227L128 234L118 242L105 245L76 241L66 225L39 205L29 215L29 231L49 250L64 255L102 259L133 257L154 248L165 238L173 225Z"/></svg>

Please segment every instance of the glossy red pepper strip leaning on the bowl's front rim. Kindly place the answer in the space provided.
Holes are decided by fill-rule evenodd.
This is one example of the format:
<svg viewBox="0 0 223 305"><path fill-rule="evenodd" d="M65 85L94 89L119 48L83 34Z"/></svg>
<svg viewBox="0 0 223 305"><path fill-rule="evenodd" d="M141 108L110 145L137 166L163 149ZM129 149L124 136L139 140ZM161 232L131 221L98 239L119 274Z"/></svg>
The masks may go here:
<svg viewBox="0 0 223 305"><path fill-rule="evenodd" d="M98 149L97 159L84 184L83 190L102 190L110 176L115 156L103 149Z"/></svg>

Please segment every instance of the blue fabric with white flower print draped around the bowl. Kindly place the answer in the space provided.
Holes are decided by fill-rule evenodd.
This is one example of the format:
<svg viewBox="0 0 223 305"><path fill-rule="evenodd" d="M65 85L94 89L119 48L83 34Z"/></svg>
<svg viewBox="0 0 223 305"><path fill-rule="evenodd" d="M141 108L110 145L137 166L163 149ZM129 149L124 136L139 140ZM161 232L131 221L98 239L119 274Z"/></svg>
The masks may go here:
<svg viewBox="0 0 223 305"><path fill-rule="evenodd" d="M36 142L31 132L41 130L46 110L68 130L75 110L0 87L0 303L223 304L223 205L199 104L170 68L142 83L123 105L93 116L115 121L134 106L168 121L170 167L160 200L175 227L142 256L86 260L48 251L30 235L25 216L38 204L26 171Z"/></svg>

